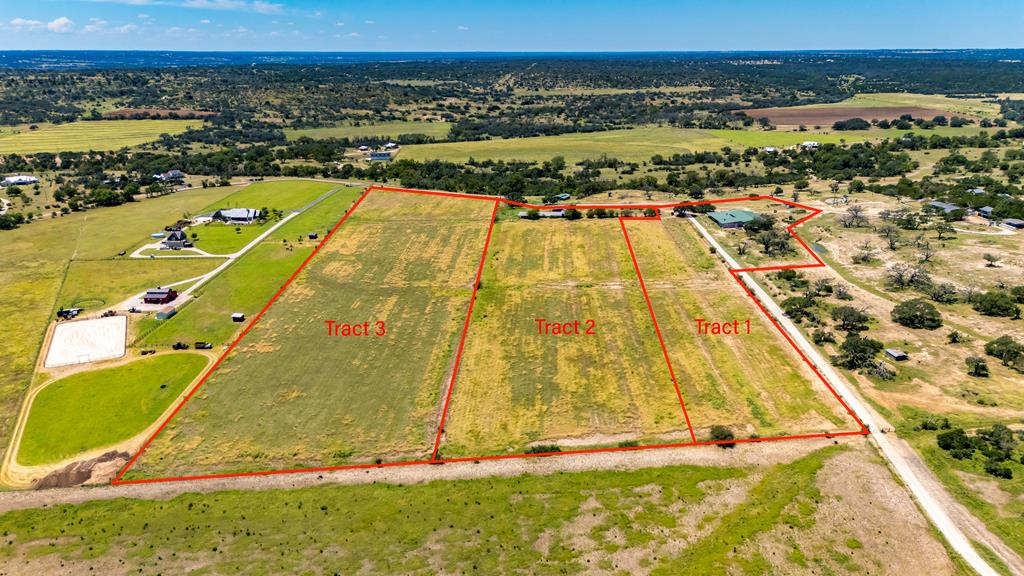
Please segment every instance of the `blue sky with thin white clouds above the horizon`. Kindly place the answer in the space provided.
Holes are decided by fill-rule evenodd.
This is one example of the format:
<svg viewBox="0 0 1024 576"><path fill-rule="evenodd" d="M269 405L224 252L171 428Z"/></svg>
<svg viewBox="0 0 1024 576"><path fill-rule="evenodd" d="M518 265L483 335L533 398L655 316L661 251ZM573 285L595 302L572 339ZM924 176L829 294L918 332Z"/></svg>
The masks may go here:
<svg viewBox="0 0 1024 576"><path fill-rule="evenodd" d="M1024 47L1019 0L0 0L0 49Z"/></svg>

